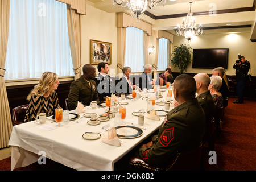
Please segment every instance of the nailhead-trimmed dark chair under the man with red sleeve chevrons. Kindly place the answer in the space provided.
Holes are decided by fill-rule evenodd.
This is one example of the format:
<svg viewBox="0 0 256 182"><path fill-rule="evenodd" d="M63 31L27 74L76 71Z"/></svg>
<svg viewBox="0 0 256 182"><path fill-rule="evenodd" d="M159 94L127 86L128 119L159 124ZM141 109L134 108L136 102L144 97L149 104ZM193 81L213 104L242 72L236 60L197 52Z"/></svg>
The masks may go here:
<svg viewBox="0 0 256 182"><path fill-rule="evenodd" d="M130 158L130 168L134 170L149 170L149 171L194 171L200 168L201 153L203 144L195 150L178 153L174 159L166 166L156 167L146 163L143 159L133 157Z"/></svg>

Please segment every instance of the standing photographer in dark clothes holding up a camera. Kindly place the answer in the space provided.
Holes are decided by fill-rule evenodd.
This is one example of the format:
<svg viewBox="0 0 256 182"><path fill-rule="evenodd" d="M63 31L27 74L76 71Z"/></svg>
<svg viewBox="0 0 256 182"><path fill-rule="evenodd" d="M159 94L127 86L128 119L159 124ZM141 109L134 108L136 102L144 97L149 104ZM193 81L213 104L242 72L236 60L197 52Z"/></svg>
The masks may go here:
<svg viewBox="0 0 256 182"><path fill-rule="evenodd" d="M240 56L240 54L238 54L238 58L239 60L236 60L236 63L233 66L233 68L236 69L236 81L237 81L236 87L237 87L238 100L233 101L233 103L242 104L243 91L245 90L245 84L246 84L246 77L251 64L249 61L245 60L245 57Z"/></svg>

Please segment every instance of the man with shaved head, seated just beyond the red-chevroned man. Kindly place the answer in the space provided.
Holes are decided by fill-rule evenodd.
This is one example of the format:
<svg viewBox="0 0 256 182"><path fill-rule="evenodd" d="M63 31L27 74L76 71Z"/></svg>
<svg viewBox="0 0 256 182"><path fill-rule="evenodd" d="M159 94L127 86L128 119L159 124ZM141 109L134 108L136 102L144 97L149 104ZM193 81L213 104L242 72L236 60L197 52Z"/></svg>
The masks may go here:
<svg viewBox="0 0 256 182"><path fill-rule="evenodd" d="M210 91L208 90L210 77L207 75L207 73L198 73L194 76L194 78L196 81L196 98L204 110L205 121L210 122L213 119L213 114L215 111L214 101Z"/></svg>

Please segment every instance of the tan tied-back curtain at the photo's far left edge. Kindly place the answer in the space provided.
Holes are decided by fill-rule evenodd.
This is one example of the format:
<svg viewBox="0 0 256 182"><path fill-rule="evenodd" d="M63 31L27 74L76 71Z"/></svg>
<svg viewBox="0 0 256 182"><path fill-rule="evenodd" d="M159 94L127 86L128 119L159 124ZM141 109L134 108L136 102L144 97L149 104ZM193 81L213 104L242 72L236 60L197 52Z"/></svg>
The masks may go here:
<svg viewBox="0 0 256 182"><path fill-rule="evenodd" d="M9 34L10 0L0 1L0 148L8 147L13 125L3 77Z"/></svg>

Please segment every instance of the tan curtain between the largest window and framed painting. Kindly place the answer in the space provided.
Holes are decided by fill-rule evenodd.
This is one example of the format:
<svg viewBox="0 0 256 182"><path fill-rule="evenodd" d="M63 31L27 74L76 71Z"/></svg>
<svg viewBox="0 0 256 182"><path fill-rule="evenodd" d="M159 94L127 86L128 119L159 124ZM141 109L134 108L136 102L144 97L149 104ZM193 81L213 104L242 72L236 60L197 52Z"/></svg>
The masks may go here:
<svg viewBox="0 0 256 182"><path fill-rule="evenodd" d="M68 35L75 80L81 76L81 26L80 14L67 5Z"/></svg>

